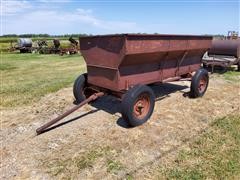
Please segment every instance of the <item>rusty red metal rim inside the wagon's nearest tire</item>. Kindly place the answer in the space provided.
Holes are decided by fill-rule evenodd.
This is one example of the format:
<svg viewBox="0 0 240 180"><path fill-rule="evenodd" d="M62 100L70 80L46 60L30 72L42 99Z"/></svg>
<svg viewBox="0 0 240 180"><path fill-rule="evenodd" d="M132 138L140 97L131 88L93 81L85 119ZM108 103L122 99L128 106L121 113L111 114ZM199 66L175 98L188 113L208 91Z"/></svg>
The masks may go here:
<svg viewBox="0 0 240 180"><path fill-rule="evenodd" d="M133 106L133 115L137 119L143 119L148 114L149 110L150 110L149 95L146 93L141 94Z"/></svg>

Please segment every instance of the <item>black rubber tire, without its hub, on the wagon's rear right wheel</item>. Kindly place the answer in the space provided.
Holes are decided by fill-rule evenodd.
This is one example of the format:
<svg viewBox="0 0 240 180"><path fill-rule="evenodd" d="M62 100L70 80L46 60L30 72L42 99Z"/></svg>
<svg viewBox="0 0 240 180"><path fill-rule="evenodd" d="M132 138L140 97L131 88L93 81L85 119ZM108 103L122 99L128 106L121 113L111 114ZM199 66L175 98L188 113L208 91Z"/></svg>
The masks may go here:
<svg viewBox="0 0 240 180"><path fill-rule="evenodd" d="M201 80L201 78L203 76L206 77L207 84L206 84L205 90L203 92L200 92L199 89L198 89L198 84L199 84L199 81ZM192 81L191 81L191 91L190 91L191 97L192 98L202 97L207 90L208 83L209 83L208 71L206 69L203 69L203 68L197 70L197 72L192 77Z"/></svg>

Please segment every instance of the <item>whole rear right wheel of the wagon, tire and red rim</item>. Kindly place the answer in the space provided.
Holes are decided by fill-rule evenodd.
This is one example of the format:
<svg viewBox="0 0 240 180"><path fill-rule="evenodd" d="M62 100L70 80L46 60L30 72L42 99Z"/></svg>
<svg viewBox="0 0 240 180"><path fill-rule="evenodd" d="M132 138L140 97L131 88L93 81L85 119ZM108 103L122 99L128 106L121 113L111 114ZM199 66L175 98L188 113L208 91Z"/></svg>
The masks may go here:
<svg viewBox="0 0 240 180"><path fill-rule="evenodd" d="M202 97L207 90L209 82L208 72L199 69L192 77L190 95L193 98Z"/></svg>

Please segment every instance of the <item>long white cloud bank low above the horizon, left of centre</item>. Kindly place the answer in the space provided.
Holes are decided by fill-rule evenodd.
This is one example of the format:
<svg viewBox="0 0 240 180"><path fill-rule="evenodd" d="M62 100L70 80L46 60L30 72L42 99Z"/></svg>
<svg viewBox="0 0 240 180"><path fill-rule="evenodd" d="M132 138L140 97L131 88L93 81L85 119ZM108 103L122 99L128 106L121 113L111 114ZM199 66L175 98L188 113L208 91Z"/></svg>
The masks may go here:
<svg viewBox="0 0 240 180"><path fill-rule="evenodd" d="M16 11L15 11L16 12ZM18 18L8 18L3 34L22 33L120 33L137 30L135 22L108 21L97 18L91 9L77 8L74 12L37 10L25 12Z"/></svg>

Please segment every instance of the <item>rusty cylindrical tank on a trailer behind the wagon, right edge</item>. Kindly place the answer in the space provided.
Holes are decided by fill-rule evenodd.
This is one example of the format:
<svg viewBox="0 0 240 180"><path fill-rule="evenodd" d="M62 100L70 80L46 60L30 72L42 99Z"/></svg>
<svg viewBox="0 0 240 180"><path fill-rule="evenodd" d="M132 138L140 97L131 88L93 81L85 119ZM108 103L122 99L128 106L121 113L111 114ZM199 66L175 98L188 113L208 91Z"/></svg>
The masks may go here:
<svg viewBox="0 0 240 180"><path fill-rule="evenodd" d="M222 67L224 69L232 65L238 66L240 71L240 38L238 32L229 31L224 39L215 39L212 41L212 47L203 56L203 66Z"/></svg>

